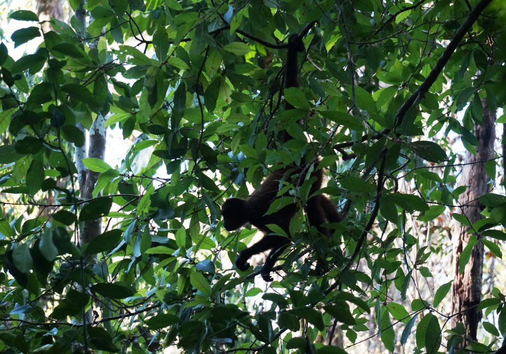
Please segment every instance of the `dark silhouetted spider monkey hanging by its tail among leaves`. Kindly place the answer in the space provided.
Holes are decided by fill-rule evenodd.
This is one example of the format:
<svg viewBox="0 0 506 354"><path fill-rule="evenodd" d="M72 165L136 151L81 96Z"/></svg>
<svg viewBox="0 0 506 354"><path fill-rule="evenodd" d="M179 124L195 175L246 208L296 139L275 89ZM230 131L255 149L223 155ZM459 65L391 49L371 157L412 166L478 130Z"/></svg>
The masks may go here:
<svg viewBox="0 0 506 354"><path fill-rule="evenodd" d="M297 54L305 50L302 39L297 34L292 34L288 38L288 49L286 56L285 66L285 82L284 87L297 87L299 69L297 66ZM285 104L286 109L291 109L288 102ZM286 131L283 132L284 141L286 141ZM271 270L276 263L278 257L282 254L283 250L290 244L290 240L284 236L267 235L270 230L267 227L269 224L278 225L286 235L289 235L290 219L299 210L299 205L295 202L285 205L283 208L266 215L271 203L276 198L292 198L287 193L278 196L280 185L282 181L292 183L300 186L301 181L305 181L309 165L308 163L301 166L288 165L286 167L274 170L262 182L259 190L256 190L249 195L245 200L239 198L229 198L222 206L223 226L227 231L239 229L245 223L249 222L251 225L258 228L266 234L259 242L251 245L250 247L242 250L235 260L236 267L245 271L249 268L247 260L258 253L271 250L266 258L264 266L261 271L261 276L265 281L272 281L270 276ZM316 169L311 172L310 178L315 180L310 188L309 195L313 195L319 191L323 182L323 170ZM281 182L280 182L281 181ZM308 199L304 210L311 225L315 226L321 233L329 236L329 230L322 228L321 225L325 222L337 223L343 217L337 212L334 204L325 196L318 194Z"/></svg>

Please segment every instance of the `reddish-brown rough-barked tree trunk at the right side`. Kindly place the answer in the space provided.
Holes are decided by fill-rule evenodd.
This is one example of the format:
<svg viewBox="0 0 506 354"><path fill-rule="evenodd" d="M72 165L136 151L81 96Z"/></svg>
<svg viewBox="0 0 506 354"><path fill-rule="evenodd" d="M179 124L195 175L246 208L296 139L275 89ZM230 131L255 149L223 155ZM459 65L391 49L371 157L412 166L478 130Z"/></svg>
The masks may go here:
<svg viewBox="0 0 506 354"><path fill-rule="evenodd" d="M462 214L466 215L473 224L482 218L481 208L476 205L477 198L488 192L487 182L490 177L485 171L485 163L474 163L493 158L495 140L495 112L492 112L483 104L483 125L475 124L475 134L480 142L477 147L477 154L467 153L462 168L461 185L468 186L466 192L459 197L459 205L467 205L461 208ZM473 206L474 205L474 206ZM483 273L483 244L479 242L471 253L469 262L462 274L458 273L458 263L462 249L466 247L470 236L475 233L469 227L458 224L453 233L453 272L452 284L452 326L462 322L466 329L466 339L476 340L476 330L481 319L481 313L477 305L481 299L482 273ZM466 341L464 342L466 345Z"/></svg>

